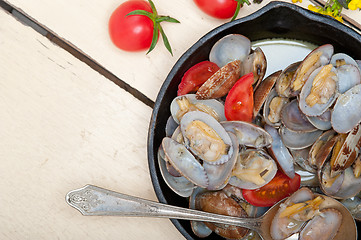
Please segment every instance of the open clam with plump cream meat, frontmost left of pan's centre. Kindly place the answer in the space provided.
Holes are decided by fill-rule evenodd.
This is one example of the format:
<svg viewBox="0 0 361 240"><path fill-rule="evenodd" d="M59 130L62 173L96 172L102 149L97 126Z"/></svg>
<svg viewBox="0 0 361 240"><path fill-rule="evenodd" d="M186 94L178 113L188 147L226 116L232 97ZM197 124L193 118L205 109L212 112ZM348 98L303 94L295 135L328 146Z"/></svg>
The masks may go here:
<svg viewBox="0 0 361 240"><path fill-rule="evenodd" d="M210 115L193 111L180 122L185 146L210 164L227 162L232 154L232 140L222 125Z"/></svg>

